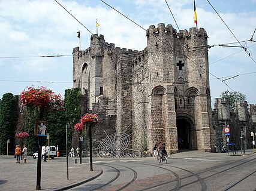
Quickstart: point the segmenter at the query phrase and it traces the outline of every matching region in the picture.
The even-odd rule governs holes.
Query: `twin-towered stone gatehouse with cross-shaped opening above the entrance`
[[[175,153],[181,149],[180,137],[183,148],[210,151],[212,116],[204,29],[177,33],[171,25],[150,26],[147,68],[149,145],[164,141],[167,151]]]

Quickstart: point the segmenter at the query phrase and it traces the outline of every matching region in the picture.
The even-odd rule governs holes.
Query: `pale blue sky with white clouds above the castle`
[[[81,31],[81,49],[85,50],[91,32],[96,33],[96,19],[98,33],[106,42],[138,51],[146,47],[146,32],[141,27],[147,29],[158,23],[172,24],[177,30],[195,27],[192,0],[167,0],[177,25],[165,0],[104,1],[141,27],[100,0],[57,1],[86,29],[53,0],[0,1],[0,98],[5,93],[19,94],[31,85],[43,85],[64,96],[65,89],[73,86],[72,52],[79,46],[77,31]],[[208,44],[215,45],[209,49],[212,104],[225,90],[239,91],[249,104],[256,104],[256,32],[253,41],[248,41],[256,28],[256,0],[195,3],[198,27],[207,31]],[[243,48],[219,46],[237,40],[243,41],[240,43],[247,53]],[[37,57],[57,55],[63,57]]]

